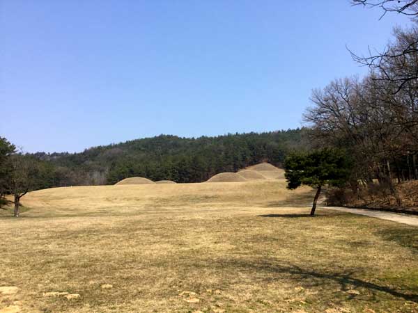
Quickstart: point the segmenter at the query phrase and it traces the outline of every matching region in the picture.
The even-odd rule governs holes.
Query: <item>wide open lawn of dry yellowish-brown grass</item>
[[[18,287],[0,312],[418,312],[418,227],[311,218],[312,191],[285,186],[25,195],[22,218],[0,210],[0,286]]]

